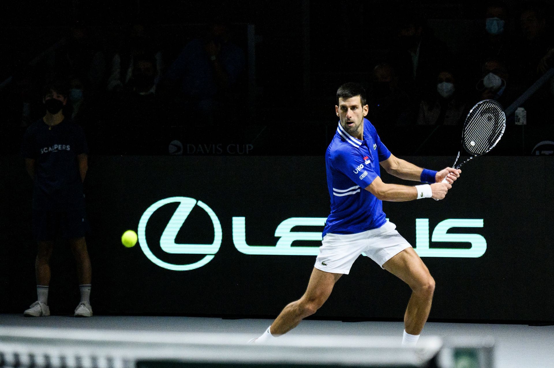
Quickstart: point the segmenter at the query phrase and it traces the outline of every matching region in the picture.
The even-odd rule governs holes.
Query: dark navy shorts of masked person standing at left
[[[85,209],[47,211],[33,209],[33,235],[37,241],[79,238],[89,231]]]

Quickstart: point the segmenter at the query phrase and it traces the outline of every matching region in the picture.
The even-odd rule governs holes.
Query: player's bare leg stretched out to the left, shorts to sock
[[[295,328],[302,319],[314,314],[331,295],[342,273],[330,273],[314,268],[304,295],[288,304],[271,324],[271,335],[278,336]]]

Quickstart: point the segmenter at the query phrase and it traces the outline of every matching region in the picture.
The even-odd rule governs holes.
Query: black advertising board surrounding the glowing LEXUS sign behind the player
[[[407,159],[440,168],[452,158]],[[9,209],[1,219],[4,298],[0,306],[4,313],[20,313],[35,298],[31,183],[17,157],[5,157],[0,164],[14,173],[0,182],[2,193],[10,193],[0,202]],[[416,244],[416,218],[428,218],[431,232],[445,219],[484,220],[483,228],[449,231],[484,236],[483,256],[423,258],[437,282],[431,320],[552,321],[552,165],[545,157],[478,158],[464,167],[445,200],[384,203],[387,216],[412,245]],[[249,245],[274,246],[275,228],[281,221],[327,216],[324,168],[322,157],[91,158],[85,193],[95,313],[274,317],[304,292],[315,256],[244,255],[233,245],[232,217],[245,217]],[[398,182],[386,173],[383,180]],[[122,232],[137,230],[150,205],[172,196],[203,201],[222,225],[222,245],[201,268],[170,271],[149,261],[139,245],[121,245]],[[164,261],[196,262],[203,255],[168,255],[159,248],[161,233],[176,207],[168,204],[154,212],[146,228],[148,245]],[[211,243],[211,227],[206,212],[195,207],[176,242]],[[299,241],[295,245],[317,247],[320,243]],[[430,243],[430,247],[467,246]],[[49,304],[53,313],[69,313],[78,301],[78,289],[73,260],[63,243],[55,248],[52,263]],[[361,257],[314,318],[402,319],[409,294],[406,284]]]

